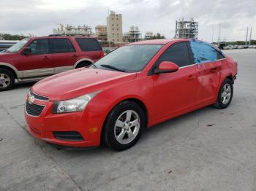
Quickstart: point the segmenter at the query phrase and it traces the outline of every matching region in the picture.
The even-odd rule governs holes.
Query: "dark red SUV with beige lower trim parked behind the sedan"
[[[61,71],[89,66],[104,52],[89,36],[42,36],[23,39],[0,52],[0,91],[18,82],[38,80]]]

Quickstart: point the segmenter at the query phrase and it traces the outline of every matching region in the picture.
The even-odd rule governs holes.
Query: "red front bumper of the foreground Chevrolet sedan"
[[[38,117],[26,112],[26,128],[32,136],[51,144],[67,147],[97,147],[100,144],[102,117],[95,111],[53,114],[53,101],[35,99],[33,104],[45,106]],[[88,111],[87,111],[88,110]],[[83,137],[82,141],[57,139],[53,132],[75,131]]]

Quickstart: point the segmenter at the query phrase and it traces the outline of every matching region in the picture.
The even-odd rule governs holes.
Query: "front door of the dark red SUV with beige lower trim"
[[[24,77],[39,77],[54,74],[52,54],[50,53],[48,39],[34,39],[26,47],[31,53],[19,55],[19,69]]]

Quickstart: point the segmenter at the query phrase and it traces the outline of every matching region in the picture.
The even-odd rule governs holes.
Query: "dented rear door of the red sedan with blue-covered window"
[[[192,53],[197,66],[197,104],[214,101],[219,90],[220,71],[222,60],[219,51],[211,44],[192,40],[190,42]]]

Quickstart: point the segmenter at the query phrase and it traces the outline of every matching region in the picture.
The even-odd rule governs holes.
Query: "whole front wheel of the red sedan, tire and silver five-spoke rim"
[[[143,109],[133,101],[123,101],[108,114],[103,139],[110,149],[129,149],[140,139],[146,125]]]

